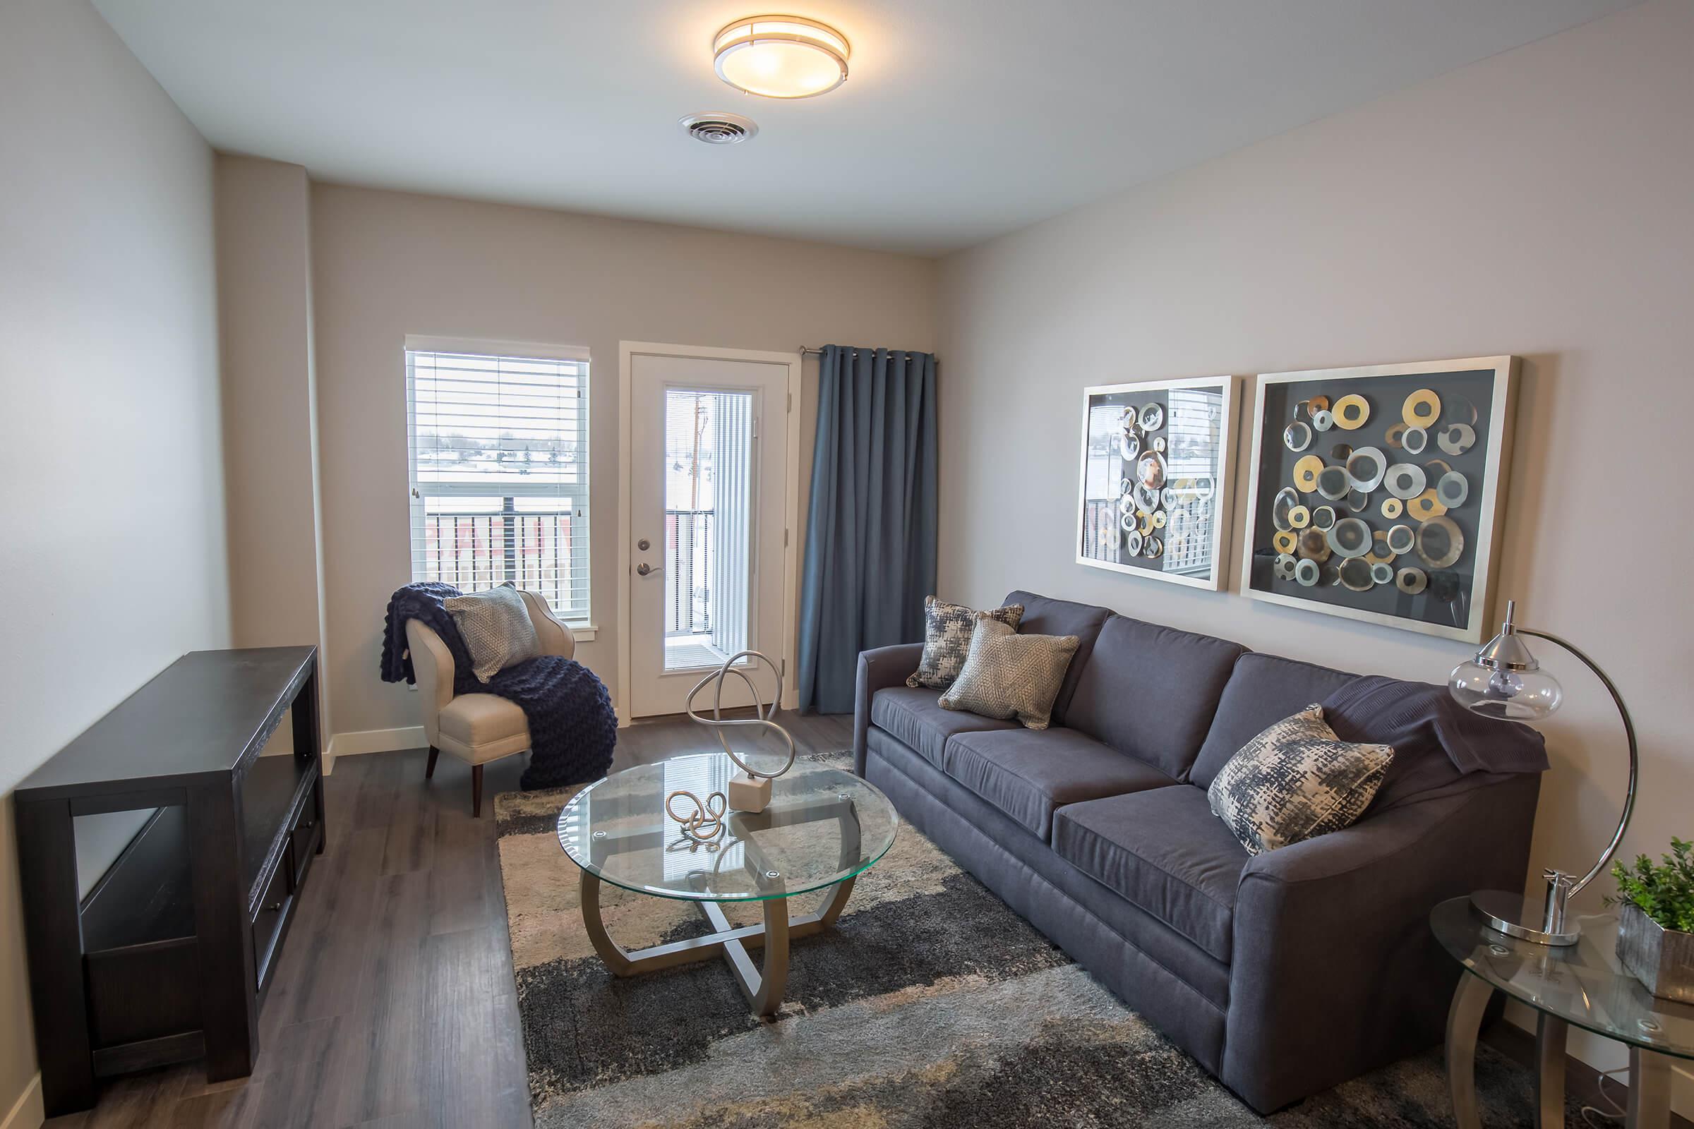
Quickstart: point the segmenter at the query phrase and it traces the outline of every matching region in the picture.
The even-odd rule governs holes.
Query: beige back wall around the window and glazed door
[[[313,186],[329,697],[337,733],[418,724],[376,677],[410,579],[407,333],[593,352],[593,614],[578,657],[617,675],[618,342],[933,349],[935,262],[434,196]],[[815,367],[800,405],[810,467]]]

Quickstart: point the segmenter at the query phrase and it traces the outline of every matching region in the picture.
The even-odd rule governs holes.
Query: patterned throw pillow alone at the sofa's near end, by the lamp
[[[1242,846],[1259,855],[1350,826],[1382,787],[1391,760],[1391,746],[1350,745],[1323,719],[1323,706],[1306,706],[1247,741],[1206,797]]]

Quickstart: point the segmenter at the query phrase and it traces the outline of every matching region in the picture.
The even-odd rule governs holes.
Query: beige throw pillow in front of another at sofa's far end
[[[942,709],[1016,718],[1028,730],[1045,730],[1076,647],[1074,635],[1018,635],[994,613],[979,611],[971,650],[942,694]]]

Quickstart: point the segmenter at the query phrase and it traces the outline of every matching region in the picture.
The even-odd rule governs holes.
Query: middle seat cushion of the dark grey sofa
[[[1152,765],[1076,730],[960,733],[947,741],[942,768],[1042,840],[1052,831],[1055,807],[1176,785]]]

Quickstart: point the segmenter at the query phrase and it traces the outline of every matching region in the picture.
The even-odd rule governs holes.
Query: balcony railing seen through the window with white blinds
[[[512,498],[496,513],[425,513],[424,559],[413,574],[468,592],[512,581],[559,616],[584,618],[588,609],[576,604],[586,589],[588,538],[578,542],[576,521],[574,511],[517,513]]]

